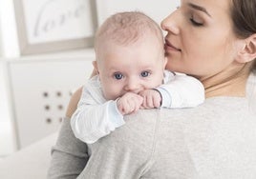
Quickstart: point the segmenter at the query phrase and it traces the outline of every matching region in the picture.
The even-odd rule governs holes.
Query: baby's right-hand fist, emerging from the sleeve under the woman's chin
[[[140,109],[154,109],[160,108],[161,95],[156,89],[145,89],[139,92],[139,95],[143,97],[143,103]]]

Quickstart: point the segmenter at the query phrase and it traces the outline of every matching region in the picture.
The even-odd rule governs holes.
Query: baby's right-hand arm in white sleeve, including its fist
[[[140,109],[192,108],[203,103],[204,88],[198,79],[185,74],[165,74],[169,74],[165,84],[139,92],[144,99]]]

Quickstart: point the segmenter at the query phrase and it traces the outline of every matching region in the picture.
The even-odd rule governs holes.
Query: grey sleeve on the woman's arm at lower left
[[[75,138],[70,119],[64,118],[57,141],[52,149],[48,179],[75,179],[89,160],[85,143]]]

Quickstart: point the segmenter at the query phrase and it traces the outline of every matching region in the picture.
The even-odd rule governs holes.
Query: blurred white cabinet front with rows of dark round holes
[[[23,148],[56,131],[71,94],[90,76],[92,59],[13,62],[9,66],[17,142]]]

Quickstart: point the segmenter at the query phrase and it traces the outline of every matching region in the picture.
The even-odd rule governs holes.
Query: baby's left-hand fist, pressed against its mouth
[[[136,112],[143,103],[143,97],[140,95],[127,92],[117,100],[117,109],[122,115]]]

